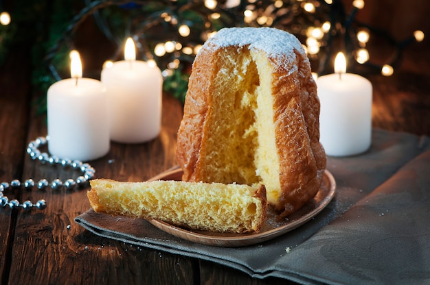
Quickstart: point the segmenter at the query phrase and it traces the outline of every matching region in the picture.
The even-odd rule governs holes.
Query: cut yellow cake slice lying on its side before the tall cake
[[[258,232],[267,216],[262,185],[110,179],[90,183],[87,196],[95,212],[234,233]]]

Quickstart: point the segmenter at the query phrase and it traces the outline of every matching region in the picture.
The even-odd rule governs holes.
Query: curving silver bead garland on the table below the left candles
[[[82,172],[82,176],[79,176],[74,179],[67,179],[64,183],[60,179],[54,179],[51,183],[47,181],[47,179],[41,179],[37,183],[34,182],[33,179],[27,179],[22,184],[19,179],[14,179],[10,182],[2,182],[0,184],[0,206],[5,208],[9,206],[11,209],[23,208],[23,210],[28,211],[32,210],[32,208],[37,208],[39,210],[43,210],[46,208],[47,203],[44,199],[38,200],[36,203],[32,203],[32,201],[24,201],[20,203],[16,199],[9,200],[8,197],[4,195],[5,190],[12,188],[21,188],[24,187],[25,190],[32,190],[34,186],[37,186],[39,190],[45,190],[49,186],[52,190],[58,191],[61,188],[66,188],[67,190],[73,190],[76,186],[83,187],[89,180],[95,177],[95,169],[89,165],[88,163],[84,163],[80,160],[69,160],[69,159],[60,159],[56,156],[49,156],[48,153],[41,152],[39,147],[46,145],[48,142],[48,138],[39,137],[36,140],[30,142],[27,146],[27,153],[30,155],[32,160],[38,160],[42,164],[49,163],[51,165],[60,164],[63,167],[71,167],[72,169],[76,169]]]

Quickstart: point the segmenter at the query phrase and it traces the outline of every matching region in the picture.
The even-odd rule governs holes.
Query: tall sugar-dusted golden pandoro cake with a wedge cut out
[[[326,168],[306,53],[280,29],[225,28],[196,55],[178,132],[183,180],[264,184],[287,216],[313,199]]]

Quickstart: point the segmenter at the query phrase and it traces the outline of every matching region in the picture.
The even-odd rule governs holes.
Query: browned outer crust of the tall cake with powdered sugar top
[[[308,58],[297,38],[278,29],[224,29],[196,56],[178,132],[177,159],[183,180],[211,182],[201,175],[205,166],[199,163],[199,156],[209,131],[205,120],[211,112],[213,82],[220,69],[218,53],[226,47],[258,50],[272,64],[273,123],[281,185],[280,197],[272,206],[280,216],[287,216],[319,190],[326,154],[319,143],[319,99]]]

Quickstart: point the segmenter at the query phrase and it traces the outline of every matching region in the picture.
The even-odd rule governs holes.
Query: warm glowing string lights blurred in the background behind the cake
[[[139,40],[137,48],[144,51],[140,54],[144,54],[146,59],[151,58],[153,62],[157,62],[163,70],[163,75],[166,76],[181,72],[180,66],[188,66],[187,64],[192,62],[194,55],[201,49],[201,44],[216,34],[218,29],[232,27],[236,24],[245,27],[277,27],[295,34],[300,40],[304,40],[306,37],[304,49],[309,59],[315,61],[312,63],[319,64],[318,72],[320,74],[332,71],[332,62],[331,60],[329,62],[328,59],[332,59],[330,53],[340,47],[345,49],[348,57],[353,55],[357,63],[363,64],[363,67],[372,68],[386,76],[390,72],[394,72],[392,66],[395,62],[388,62],[387,66],[383,67],[369,62],[369,51],[365,47],[370,36],[373,36],[373,32],[380,31],[354,21],[357,11],[364,8],[363,0],[352,1],[353,7],[350,13],[343,10],[343,1],[335,2],[333,0],[225,0],[219,3],[216,0],[205,0],[190,1],[186,6],[180,1],[174,5],[169,5],[168,2],[163,1],[160,4],[164,5],[163,10],[144,12],[142,16],[137,16],[133,22],[133,24],[139,24],[137,29],[134,26],[129,27],[131,31],[137,31],[133,38]],[[100,8],[112,5],[111,1],[100,1],[100,3],[102,3]],[[333,3],[336,5],[332,5]],[[184,6],[179,7],[180,5]],[[176,10],[185,7],[191,12],[197,12],[196,14],[201,18],[187,18],[186,13],[181,14]],[[90,11],[88,8],[87,13],[98,8],[91,7],[91,9],[93,10]],[[84,15],[84,13],[81,14]],[[339,18],[339,16],[346,18]],[[100,22],[109,23],[109,19],[103,20],[106,21]],[[157,27],[152,29],[155,26]],[[73,27],[73,25],[69,25],[69,27]],[[106,25],[106,29],[110,29],[110,27]],[[75,30],[76,27],[70,29],[71,32]],[[163,31],[165,34],[154,34],[157,33],[154,31]],[[393,41],[389,37],[390,35],[383,34],[383,36],[396,45],[396,49],[400,53],[401,49],[411,40],[422,41],[424,33],[416,31],[414,37],[409,37],[405,42]],[[50,59],[52,60],[52,57]],[[364,71],[363,67],[360,71]],[[348,68],[354,69],[354,65]],[[170,71],[170,69],[174,69],[174,71]],[[188,72],[188,69],[184,70],[185,73]],[[178,77],[175,76],[175,78]]]

